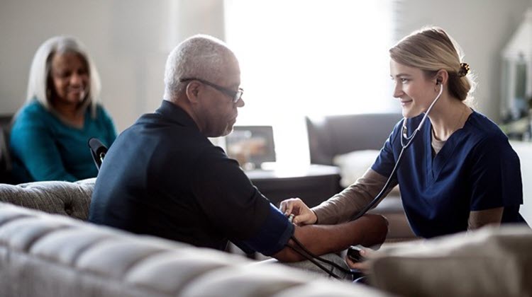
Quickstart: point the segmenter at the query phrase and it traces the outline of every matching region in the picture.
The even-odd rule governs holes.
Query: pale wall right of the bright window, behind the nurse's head
[[[398,36],[423,25],[438,25],[458,41],[465,62],[477,74],[477,110],[499,120],[501,50],[523,20],[532,0],[404,0],[399,4]]]

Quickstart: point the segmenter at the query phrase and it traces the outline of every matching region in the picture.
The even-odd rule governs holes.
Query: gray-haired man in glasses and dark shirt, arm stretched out
[[[282,261],[303,257],[296,238],[323,255],[382,243],[382,216],[336,226],[295,226],[252,185],[238,163],[207,137],[227,135],[244,106],[235,54],[214,37],[184,40],[167,59],[165,95],[109,149],[96,180],[89,221],[133,233]]]

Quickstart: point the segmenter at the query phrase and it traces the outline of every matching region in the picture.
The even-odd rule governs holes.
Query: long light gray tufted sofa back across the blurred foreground
[[[2,296],[387,296],[366,286],[0,203]]]

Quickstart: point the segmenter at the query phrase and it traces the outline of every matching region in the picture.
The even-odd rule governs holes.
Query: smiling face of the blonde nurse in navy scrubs
[[[403,117],[416,117],[425,112],[438,95],[434,80],[426,78],[423,71],[390,60],[390,76],[395,83],[394,98],[401,103]]]

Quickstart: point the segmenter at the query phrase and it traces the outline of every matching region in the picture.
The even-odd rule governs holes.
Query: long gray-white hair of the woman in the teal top
[[[48,90],[48,79],[52,71],[52,57],[55,54],[64,54],[66,52],[74,52],[79,54],[84,62],[87,63],[89,71],[90,89],[87,94],[85,102],[91,106],[92,117],[96,116],[96,104],[100,102],[100,76],[96,70],[96,65],[87,54],[82,42],[79,42],[71,36],[55,36],[43,42],[42,45],[35,52],[33,61],[31,62],[30,75],[28,78],[28,93],[26,96],[26,103],[31,103],[33,100],[38,100],[47,110],[51,109],[50,90]],[[85,105],[85,106],[87,106]]]

